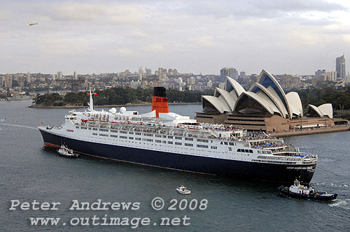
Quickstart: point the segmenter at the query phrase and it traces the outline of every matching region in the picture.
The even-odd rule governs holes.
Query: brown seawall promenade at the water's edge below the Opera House
[[[350,125],[346,126],[334,126],[329,128],[320,128],[320,129],[307,129],[304,131],[285,131],[279,133],[269,133],[269,136],[273,137],[289,137],[289,136],[304,136],[311,135],[316,133],[333,133],[333,132],[341,132],[341,131],[350,131]]]

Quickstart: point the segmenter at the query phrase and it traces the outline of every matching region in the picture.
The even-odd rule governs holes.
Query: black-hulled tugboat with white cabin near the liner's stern
[[[328,193],[328,192],[316,192],[314,188],[307,187],[300,184],[300,181],[294,181],[294,184],[290,187],[279,187],[281,194],[285,196],[292,196],[295,198],[307,198],[318,201],[332,201],[337,198],[338,194]]]

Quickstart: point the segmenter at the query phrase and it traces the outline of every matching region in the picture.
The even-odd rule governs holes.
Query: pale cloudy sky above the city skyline
[[[350,71],[350,1],[0,0],[0,73]],[[38,23],[29,26],[30,23]],[[349,57],[348,57],[349,56]]]

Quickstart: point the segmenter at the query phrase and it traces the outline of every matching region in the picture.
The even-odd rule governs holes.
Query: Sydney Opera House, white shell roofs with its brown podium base
[[[202,111],[196,113],[196,119],[267,132],[334,126],[330,103],[318,107],[309,105],[307,115],[303,115],[297,92],[286,94],[265,70],[248,91],[236,80],[226,77],[225,89],[216,88],[214,96],[202,96]]]

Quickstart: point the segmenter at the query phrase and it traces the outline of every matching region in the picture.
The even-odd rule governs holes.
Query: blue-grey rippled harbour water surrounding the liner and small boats
[[[278,186],[273,183],[232,180],[90,157],[57,157],[55,150],[43,146],[36,126],[41,122],[63,124],[64,115],[70,109],[27,108],[30,103],[0,101],[0,118],[6,118],[0,122],[0,231],[350,230],[349,131],[286,138],[301,151],[318,154],[311,185],[317,191],[339,194],[334,202],[320,203],[279,196]],[[200,110],[201,106],[169,108],[193,118],[195,110]],[[151,106],[130,106],[128,110],[146,113]],[[175,189],[181,184],[192,194],[177,194]],[[155,197],[165,202],[162,210],[152,208]],[[111,203],[139,203],[139,209],[70,210],[75,200],[94,203],[99,202],[98,199]],[[207,204],[203,199],[207,199]],[[21,210],[19,206],[10,210],[11,200],[59,202],[60,205],[58,210]],[[176,201],[176,210],[169,210]],[[184,207],[186,202],[192,202],[193,209],[189,205]],[[199,208],[201,203],[202,210]],[[94,226],[91,220],[94,215],[130,220],[148,217],[151,223],[140,223],[134,229],[131,224]],[[60,221],[57,226],[33,226],[30,218],[36,217],[59,217]],[[179,217],[181,222],[179,225],[160,225],[164,217]],[[187,226],[183,225],[184,217],[189,218]],[[90,225],[72,225],[78,220],[81,222],[81,218],[89,218]],[[133,222],[135,224],[137,220]]]

